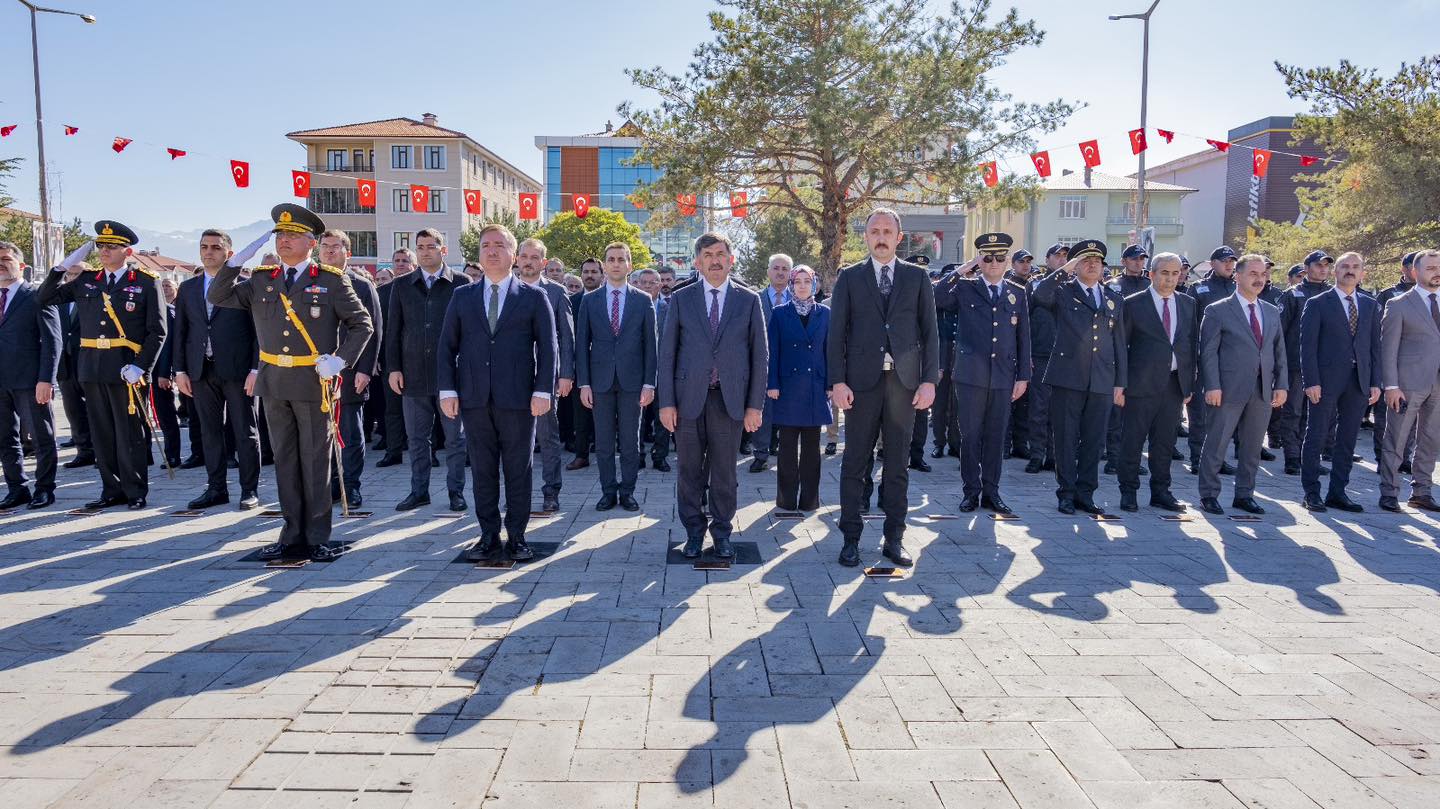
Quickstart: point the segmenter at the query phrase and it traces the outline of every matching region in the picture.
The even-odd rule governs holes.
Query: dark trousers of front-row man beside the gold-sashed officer
[[[536,417],[528,409],[465,407],[459,412],[469,452],[475,518],[482,537],[500,535],[500,479],[505,481],[505,534],[526,538],[530,525],[530,474],[534,466]]]

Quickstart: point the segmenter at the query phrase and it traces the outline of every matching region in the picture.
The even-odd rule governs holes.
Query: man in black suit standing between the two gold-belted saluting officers
[[[229,233],[213,229],[202,233],[203,272],[186,279],[176,297],[176,331],[171,337],[176,389],[194,402],[206,474],[204,492],[192,500],[189,508],[230,502],[226,428],[239,461],[240,510],[261,502],[261,436],[255,404],[261,357],[255,322],[243,311],[216,307],[207,298],[215,274],[233,255]]]

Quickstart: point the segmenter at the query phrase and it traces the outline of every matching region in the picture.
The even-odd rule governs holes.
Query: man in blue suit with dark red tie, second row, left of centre
[[[635,501],[639,415],[655,397],[655,307],[649,295],[625,281],[629,272],[629,245],[606,245],[605,284],[586,292],[575,324],[575,379],[580,404],[595,417],[595,453],[600,465],[596,511],[609,511],[616,504],[625,511],[639,511]]]

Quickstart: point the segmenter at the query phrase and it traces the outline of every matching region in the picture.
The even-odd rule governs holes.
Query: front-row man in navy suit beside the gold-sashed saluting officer
[[[505,554],[534,559],[526,543],[536,419],[554,397],[554,318],[544,292],[511,275],[516,235],[503,225],[480,230],[484,275],[451,295],[441,325],[441,412],[465,425],[480,540],[468,557],[500,553],[500,479],[505,481]]]

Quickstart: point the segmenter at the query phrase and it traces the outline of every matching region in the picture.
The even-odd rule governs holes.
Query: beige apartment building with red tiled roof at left
[[[354,265],[370,271],[390,265],[415,232],[445,233],[446,261],[464,263],[459,235],[488,216],[514,214],[521,193],[540,193],[540,181],[490,151],[465,132],[446,130],[433,114],[343,124],[289,132],[305,147],[311,173],[307,207],[325,225],[350,235]],[[360,204],[357,178],[376,180],[373,206]],[[410,207],[410,186],[431,189],[429,210]],[[464,190],[478,190],[478,214],[465,212]]]

